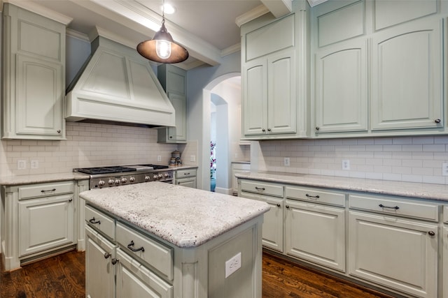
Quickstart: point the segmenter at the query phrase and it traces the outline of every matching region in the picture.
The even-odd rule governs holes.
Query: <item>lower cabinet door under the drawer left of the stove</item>
[[[38,253],[57,246],[73,244],[73,195],[19,202],[20,256]]]

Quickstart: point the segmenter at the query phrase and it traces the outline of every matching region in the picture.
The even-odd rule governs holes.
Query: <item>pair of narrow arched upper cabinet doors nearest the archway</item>
[[[295,50],[249,61],[244,66],[244,135],[296,133]]]

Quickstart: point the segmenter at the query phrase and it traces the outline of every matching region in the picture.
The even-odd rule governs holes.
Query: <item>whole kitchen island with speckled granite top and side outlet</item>
[[[265,202],[161,182],[80,198],[87,296],[261,297]]]

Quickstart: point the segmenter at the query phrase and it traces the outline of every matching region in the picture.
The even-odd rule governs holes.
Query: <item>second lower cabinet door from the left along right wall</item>
[[[345,272],[345,209],[286,200],[286,253]]]

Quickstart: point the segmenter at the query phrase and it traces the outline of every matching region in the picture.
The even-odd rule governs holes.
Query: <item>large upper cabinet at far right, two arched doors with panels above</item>
[[[446,133],[437,7],[330,0],[312,10],[315,137]]]

